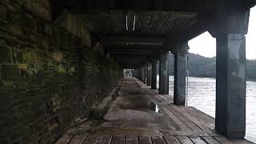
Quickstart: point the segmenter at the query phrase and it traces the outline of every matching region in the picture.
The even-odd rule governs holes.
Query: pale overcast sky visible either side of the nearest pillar
[[[190,40],[190,53],[205,57],[216,56],[216,40],[206,32]],[[256,6],[250,10],[249,31],[246,35],[246,58],[256,59]]]

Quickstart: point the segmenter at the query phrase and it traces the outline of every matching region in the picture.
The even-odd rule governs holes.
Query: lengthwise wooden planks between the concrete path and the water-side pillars
[[[166,115],[167,118],[172,119],[181,130],[204,131],[207,134],[216,134],[214,131],[214,118],[189,106],[174,106],[170,95],[161,95],[157,94],[154,90],[147,90],[154,101],[161,104],[159,106],[160,112]]]

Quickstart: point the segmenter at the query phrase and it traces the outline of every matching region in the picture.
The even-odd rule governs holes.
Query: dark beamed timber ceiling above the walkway
[[[223,0],[225,1],[225,0]],[[53,0],[53,18],[63,10],[78,14],[123,68],[136,68],[161,50],[206,31],[221,0]],[[229,0],[226,0],[228,2]],[[234,0],[250,7],[254,0]]]

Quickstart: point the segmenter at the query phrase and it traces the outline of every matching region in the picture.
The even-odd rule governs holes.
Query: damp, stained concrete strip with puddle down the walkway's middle
[[[181,130],[179,126],[161,111],[156,111],[157,102],[150,98],[150,93],[138,86],[134,78],[124,78],[118,98],[110,109],[95,125],[84,123],[72,130],[72,134],[124,134],[124,135],[159,135],[166,131]],[[82,130],[82,127],[86,129]],[[79,130],[76,131],[76,130]]]

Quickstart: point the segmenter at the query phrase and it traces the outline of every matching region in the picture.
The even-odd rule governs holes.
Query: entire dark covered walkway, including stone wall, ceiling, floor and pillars
[[[0,0],[0,143],[243,139],[246,34],[255,5]],[[206,31],[216,38],[216,120],[185,106],[188,42]],[[167,95],[170,53],[174,94]],[[134,78],[122,79],[124,70]]]

